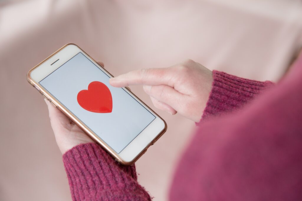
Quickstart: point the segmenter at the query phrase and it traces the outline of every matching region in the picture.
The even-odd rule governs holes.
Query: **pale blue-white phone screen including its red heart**
[[[81,52],[39,83],[117,153],[156,118]]]

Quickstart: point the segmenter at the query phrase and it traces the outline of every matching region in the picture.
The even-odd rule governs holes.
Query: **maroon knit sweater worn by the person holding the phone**
[[[302,58],[265,91],[271,82],[213,76],[170,200],[302,200]],[[63,161],[73,200],[151,200],[135,166],[117,164],[99,145],[78,145]]]

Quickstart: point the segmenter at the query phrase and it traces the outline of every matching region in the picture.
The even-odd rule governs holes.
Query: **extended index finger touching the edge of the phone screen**
[[[129,85],[169,85],[173,86],[169,68],[140,69],[130,71],[126,74],[110,78],[109,83],[114,87],[125,87]]]

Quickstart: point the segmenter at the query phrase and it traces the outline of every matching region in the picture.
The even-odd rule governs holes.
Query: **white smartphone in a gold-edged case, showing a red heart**
[[[115,160],[131,165],[167,124],[79,46],[66,44],[27,73],[27,81]]]

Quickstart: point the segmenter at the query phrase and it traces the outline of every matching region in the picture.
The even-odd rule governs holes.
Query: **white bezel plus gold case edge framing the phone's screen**
[[[27,73],[27,81],[37,88],[42,95],[47,97],[59,110],[65,113],[76,125],[78,125],[84,132],[86,132],[92,139],[98,142],[104,149],[106,149],[117,161],[124,165],[131,165],[141,155],[143,155],[150,145],[153,145],[166,131],[167,124],[165,121],[156,114],[151,108],[149,108],[143,101],[141,101],[136,95],[134,95],[127,88],[123,88],[128,94],[130,94],[136,101],[142,104],[150,113],[156,118],[146,128],[140,132],[119,154],[115,152],[109,145],[106,144],[98,135],[96,135],[85,123],[71,111],[69,111],[63,104],[61,104],[55,97],[52,96],[39,82],[50,75],[53,71],[58,69],[61,65],[81,52],[91,62],[93,62],[101,71],[103,71],[109,77],[113,77],[106,69],[99,65],[94,59],[92,59],[87,53],[85,53],[79,46],[73,43],[66,44],[58,49],[55,53],[50,55],[47,59],[36,65]],[[59,60],[57,60],[59,59]],[[54,63],[55,62],[55,63]],[[52,64],[52,65],[51,65]]]

